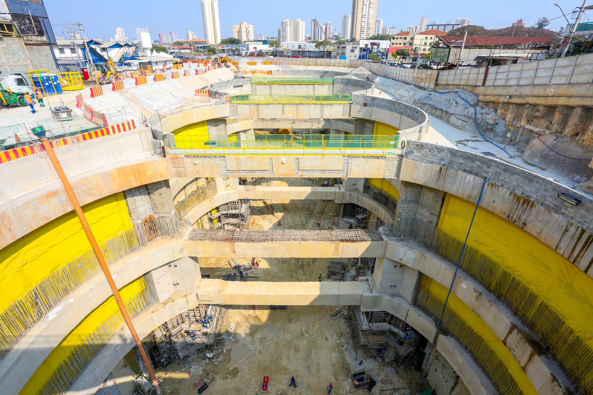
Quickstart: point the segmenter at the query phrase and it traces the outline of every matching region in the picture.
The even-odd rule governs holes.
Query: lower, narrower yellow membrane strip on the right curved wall
[[[471,227],[470,235],[474,232],[474,226],[476,226],[475,221]],[[438,282],[432,280],[423,282],[422,286],[425,288],[423,289],[424,291],[438,298],[441,303],[445,302],[448,288],[445,288]],[[454,313],[457,314],[461,320],[463,320],[469,327],[471,327],[471,329],[474,330],[474,332],[476,332],[480,337],[482,337],[482,339],[484,339],[484,341],[486,341],[486,343],[490,346],[490,349],[492,349],[492,352],[498,356],[498,359],[503,362],[509,374],[511,374],[515,379],[515,382],[521,391],[523,391],[525,394],[537,394],[533,384],[531,384],[531,381],[521,369],[521,366],[519,366],[515,357],[512,356],[509,349],[506,348],[498,336],[492,332],[492,329],[490,329],[490,327],[487,326],[486,323],[483,322],[483,320],[476,313],[474,313],[470,307],[467,306],[467,304],[463,303],[460,298],[451,293],[451,295],[449,295],[449,300],[447,301],[447,307],[448,309],[454,311]],[[440,315],[441,311],[439,311],[438,314]]]

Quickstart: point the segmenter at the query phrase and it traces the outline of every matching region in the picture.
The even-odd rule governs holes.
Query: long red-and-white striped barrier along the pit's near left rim
[[[97,139],[98,137],[109,136],[111,134],[122,133],[123,131],[136,129],[134,120],[125,121],[119,124],[107,126],[101,129],[87,131],[85,133],[75,134],[74,136],[62,137],[61,139],[55,139],[50,144],[52,147],[58,148],[69,144],[84,142],[87,140]],[[0,151],[0,163],[10,162],[11,160],[24,158],[28,155],[33,155],[43,151],[43,145],[40,143],[33,144],[32,146],[24,146],[18,148],[12,148],[5,151]]]

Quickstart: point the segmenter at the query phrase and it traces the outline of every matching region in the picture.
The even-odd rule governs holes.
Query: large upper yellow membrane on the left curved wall
[[[132,229],[122,192],[82,207],[99,243]],[[62,265],[91,248],[74,211],[0,251],[0,311]]]

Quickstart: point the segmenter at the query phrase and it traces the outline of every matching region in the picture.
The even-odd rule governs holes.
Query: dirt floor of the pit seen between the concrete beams
[[[288,181],[288,184],[286,183]],[[280,186],[320,185],[321,179],[255,179],[248,185]],[[338,226],[339,205],[333,201],[252,201],[250,229],[321,229]],[[253,257],[235,257],[247,263]],[[234,272],[227,264],[228,257],[200,259],[202,274],[218,278],[218,274]],[[259,268],[252,269],[248,281],[317,281],[323,274],[327,281],[327,259],[259,258]],[[377,380],[372,393],[416,393],[420,373],[398,370],[384,361],[378,361],[375,350],[369,355],[359,350],[358,355],[350,336],[349,323],[340,317],[333,320],[333,306],[289,306],[270,310],[259,306],[257,310],[246,306],[229,306],[224,329],[216,354],[206,358],[201,353],[186,357],[181,362],[157,372],[163,379],[164,394],[196,394],[196,378],[213,375],[205,394],[256,394],[264,375],[269,375],[267,394],[327,394],[326,387],[333,384],[332,394],[366,393],[355,391],[350,374],[366,369]],[[208,359],[208,363],[206,363]],[[359,362],[362,364],[359,365]],[[288,387],[294,375],[297,388]],[[391,380],[381,384],[382,380]],[[390,388],[394,388],[390,390]],[[395,388],[398,388],[397,390]],[[380,391],[385,390],[385,391]],[[266,393],[259,391],[260,394]]]

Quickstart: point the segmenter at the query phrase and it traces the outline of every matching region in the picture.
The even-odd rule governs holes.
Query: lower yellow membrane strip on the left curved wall
[[[144,282],[144,277],[136,278],[136,280],[120,289],[120,295],[122,296],[123,302],[126,303],[130,298],[139,292],[144,291],[145,288],[146,284]],[[115,298],[110,296],[96,309],[91,311],[88,316],[84,317],[84,319],[82,319],[82,321],[62,339],[58,346],[56,346],[56,348],[47,356],[45,361],[39,365],[39,368],[37,368],[20,393],[23,395],[39,393],[47,380],[52,377],[56,368],[58,368],[59,365],[72,354],[72,351],[74,351],[76,346],[81,345],[85,339],[87,339],[89,333],[92,333],[97,326],[100,326],[101,323],[103,323],[103,321],[107,320],[110,316],[116,316],[116,314],[121,315]]]

